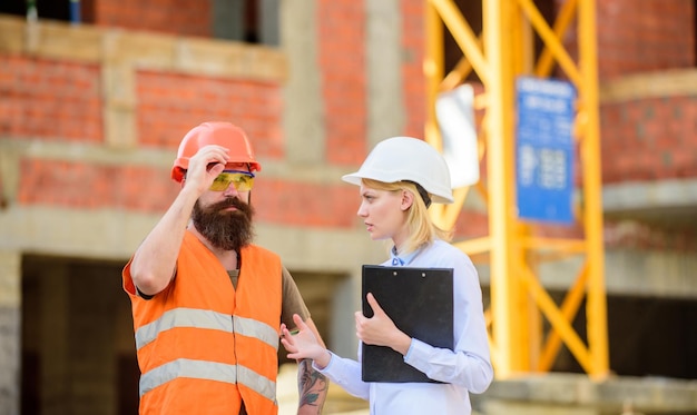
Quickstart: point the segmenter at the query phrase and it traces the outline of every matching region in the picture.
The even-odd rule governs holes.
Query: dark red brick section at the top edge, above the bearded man
[[[210,37],[209,0],[95,0],[94,24]]]

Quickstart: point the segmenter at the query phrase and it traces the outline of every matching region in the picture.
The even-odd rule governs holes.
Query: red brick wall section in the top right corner
[[[696,65],[694,0],[596,3],[601,79]]]

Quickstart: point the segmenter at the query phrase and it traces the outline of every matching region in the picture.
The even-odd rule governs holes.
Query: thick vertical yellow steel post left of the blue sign
[[[487,51],[489,96],[487,110],[487,166],[489,186],[489,233],[492,337],[499,348],[497,374],[509,377],[527,372],[528,344],[517,319],[527,309],[521,303],[520,281],[514,278],[516,229],[513,207],[513,91],[512,53],[509,29],[512,24],[510,2],[488,0],[483,3],[484,50]],[[477,68],[477,66],[475,66]],[[478,75],[479,72],[478,69]]]

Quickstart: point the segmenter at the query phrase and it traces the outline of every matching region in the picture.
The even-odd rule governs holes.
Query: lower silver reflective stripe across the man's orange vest
[[[210,379],[229,384],[240,383],[276,404],[273,382],[244,366],[180,358],[166,363],[140,376],[140,396],[177,377]]]

